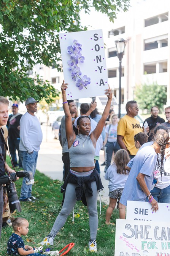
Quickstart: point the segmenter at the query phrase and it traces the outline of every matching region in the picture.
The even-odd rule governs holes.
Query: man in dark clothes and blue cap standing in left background
[[[14,167],[22,167],[21,157],[19,156],[19,122],[22,114],[18,113],[18,104],[14,103],[12,105],[12,114],[8,118],[7,128],[8,128],[8,146],[10,149],[11,158]],[[19,162],[17,163],[16,150],[19,156]]]

